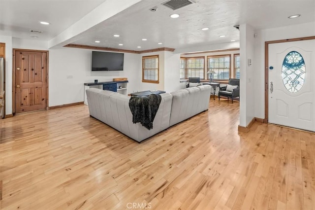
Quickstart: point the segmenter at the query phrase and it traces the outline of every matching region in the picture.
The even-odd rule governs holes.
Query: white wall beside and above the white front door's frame
[[[315,22],[285,26],[255,32],[255,69],[254,69],[254,100],[255,117],[265,117],[265,41],[299,38],[315,35]],[[241,73],[242,77],[242,73]]]

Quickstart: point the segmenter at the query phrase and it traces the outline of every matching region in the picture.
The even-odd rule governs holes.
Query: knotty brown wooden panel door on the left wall
[[[15,113],[46,109],[47,52],[15,50]]]

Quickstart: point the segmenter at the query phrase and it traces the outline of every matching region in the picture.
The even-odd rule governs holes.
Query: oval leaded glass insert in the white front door
[[[296,51],[289,52],[282,64],[284,87],[290,93],[301,90],[305,80],[305,63],[302,55]]]

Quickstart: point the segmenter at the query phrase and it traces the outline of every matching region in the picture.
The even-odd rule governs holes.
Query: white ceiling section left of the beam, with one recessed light
[[[49,40],[105,0],[0,0],[0,35]],[[51,25],[39,23],[46,21]],[[31,33],[30,29],[43,31]]]

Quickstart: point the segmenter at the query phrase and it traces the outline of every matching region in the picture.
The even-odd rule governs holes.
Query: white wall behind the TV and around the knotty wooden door
[[[0,36],[6,44],[6,114],[12,113],[12,48],[48,50],[47,42]],[[128,93],[140,89],[139,54],[125,53],[123,71],[91,71],[92,50],[59,47],[49,49],[49,106],[84,101],[84,83],[128,78]],[[140,73],[139,73],[140,72]],[[72,77],[72,78],[68,78]]]

